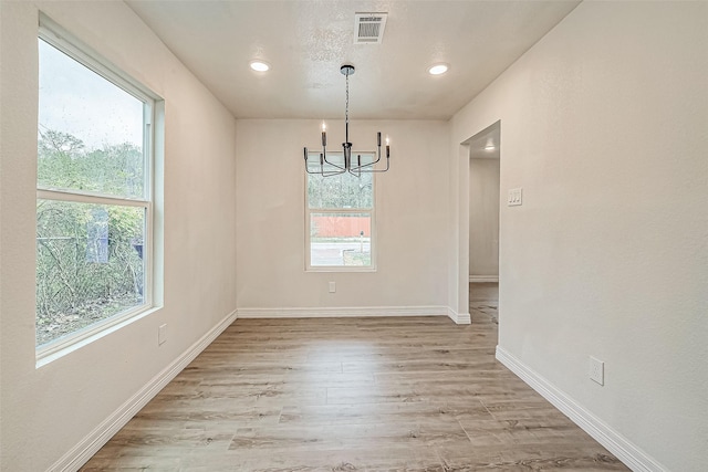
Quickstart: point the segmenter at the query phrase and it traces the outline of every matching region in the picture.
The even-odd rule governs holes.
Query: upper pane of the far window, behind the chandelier
[[[309,169],[314,171],[320,168],[320,155],[310,155],[308,159]],[[352,153],[355,159],[356,153]],[[371,156],[371,154],[369,154]],[[334,154],[332,161],[339,162],[342,153]],[[327,154],[327,159],[330,155]],[[316,161],[316,166],[313,162]],[[325,170],[326,167],[325,167]],[[345,209],[369,209],[374,206],[374,191],[372,189],[373,174],[362,172],[360,177],[348,172],[337,176],[322,177],[308,174],[308,202],[310,208],[345,208]]]

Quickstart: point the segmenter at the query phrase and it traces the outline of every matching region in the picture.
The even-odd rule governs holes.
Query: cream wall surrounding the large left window
[[[35,368],[38,7],[165,98],[164,307]],[[0,469],[48,470],[236,308],[236,124],[123,2],[0,2]],[[157,346],[157,327],[168,339]]]

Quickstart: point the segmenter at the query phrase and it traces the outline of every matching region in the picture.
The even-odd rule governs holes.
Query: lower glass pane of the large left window
[[[37,345],[144,303],[145,208],[37,202]]]

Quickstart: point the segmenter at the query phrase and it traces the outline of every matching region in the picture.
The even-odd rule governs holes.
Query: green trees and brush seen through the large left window
[[[44,130],[38,186],[107,196],[144,193],[144,157],[131,144],[86,150]],[[37,344],[143,304],[143,207],[38,199]]]

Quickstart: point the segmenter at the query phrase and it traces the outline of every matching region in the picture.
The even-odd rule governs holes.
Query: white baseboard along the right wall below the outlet
[[[497,346],[497,359],[633,471],[666,472],[668,470],[500,346]]]

